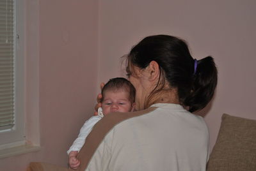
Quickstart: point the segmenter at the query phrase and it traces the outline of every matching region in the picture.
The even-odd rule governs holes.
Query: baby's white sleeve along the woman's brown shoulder
[[[70,151],[80,151],[83,147],[85,138],[88,134],[92,131],[93,126],[100,121],[102,117],[99,115],[95,115],[88,119],[84,124],[83,127],[80,129],[79,135],[76,140],[73,142],[67,153],[69,154]]]

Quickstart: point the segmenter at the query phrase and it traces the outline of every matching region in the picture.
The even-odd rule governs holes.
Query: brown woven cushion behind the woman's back
[[[256,170],[256,121],[223,114],[207,171]]]

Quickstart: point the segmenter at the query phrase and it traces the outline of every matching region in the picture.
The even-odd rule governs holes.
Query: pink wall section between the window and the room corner
[[[97,93],[98,1],[26,0],[26,3],[27,100],[36,97],[29,93],[36,89],[31,82],[39,86],[39,99],[35,99],[38,107],[29,107],[32,103],[27,103],[26,118],[27,125],[35,128],[36,122],[31,118],[36,119],[34,112],[38,110],[42,149],[0,159],[0,170],[25,170],[31,161],[67,166],[66,151],[83,122],[93,114]],[[33,18],[37,7],[38,21]],[[36,24],[38,31],[31,29]],[[39,39],[37,46],[31,36],[35,33]],[[31,47],[38,47],[39,52]],[[33,56],[36,53],[37,60]]]

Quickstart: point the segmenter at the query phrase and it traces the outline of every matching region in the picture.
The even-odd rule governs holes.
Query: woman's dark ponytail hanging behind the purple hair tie
[[[184,99],[189,112],[204,108],[211,101],[217,85],[218,76],[214,59],[211,56],[198,60],[193,74],[191,93]]]

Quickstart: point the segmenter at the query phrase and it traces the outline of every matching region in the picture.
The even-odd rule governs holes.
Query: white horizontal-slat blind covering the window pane
[[[14,126],[13,0],[0,0],[0,131]]]

